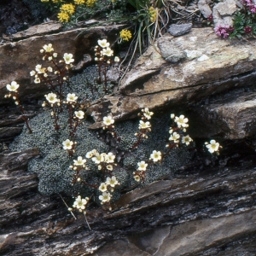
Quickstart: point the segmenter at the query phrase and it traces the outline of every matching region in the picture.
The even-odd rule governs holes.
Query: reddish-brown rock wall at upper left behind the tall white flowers
[[[110,42],[114,41],[119,27],[121,25],[79,28],[0,45],[0,104],[6,102],[6,84],[14,80],[20,84],[22,98],[35,98],[44,95],[48,90],[45,84],[34,84],[29,74],[37,64],[44,64],[39,53],[44,44],[53,44],[60,56],[66,52],[72,53],[76,65],[84,59],[84,54],[94,54],[93,47],[98,39],[108,38]]]

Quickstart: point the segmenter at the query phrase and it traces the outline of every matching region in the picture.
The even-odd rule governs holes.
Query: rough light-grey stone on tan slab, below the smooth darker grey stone
[[[187,56],[182,49],[179,49],[169,40],[159,40],[158,47],[162,57],[172,63],[177,63]]]

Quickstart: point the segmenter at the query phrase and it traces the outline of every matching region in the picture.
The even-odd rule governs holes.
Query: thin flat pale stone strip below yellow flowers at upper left
[[[31,26],[30,28],[13,34],[10,38],[12,39],[22,39],[22,38],[30,38],[38,35],[43,35],[51,32],[58,32],[61,30],[61,22],[57,22],[55,20],[49,20],[44,22],[38,26]]]

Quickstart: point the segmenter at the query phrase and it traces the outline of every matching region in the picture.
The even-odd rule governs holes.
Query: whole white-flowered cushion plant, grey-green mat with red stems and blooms
[[[100,43],[106,46],[102,51],[107,50],[107,40],[102,41]],[[55,61],[51,44],[44,45],[41,52],[44,61],[49,61],[53,67],[38,64],[31,75],[35,83],[44,81],[53,92],[45,95],[43,106],[46,111],[31,120],[35,131],[31,136],[23,132],[11,147],[16,150],[39,148],[41,155],[31,160],[28,168],[38,174],[38,189],[42,194],[64,192],[73,196],[73,207],[68,210],[82,212],[86,220],[86,206],[90,200],[95,199],[96,203],[111,210],[111,203],[119,198],[122,189],[151,183],[189,160],[186,146],[192,139],[184,135],[189,119],[183,115],[172,114],[173,124],[169,127],[169,117],[154,120],[154,113],[148,108],[138,114],[139,125],[133,121],[114,124],[112,115],[108,114],[102,118],[102,129],[98,134],[89,131],[90,120],[85,119],[83,102],[93,93],[84,80],[69,79],[67,71],[72,67],[73,55],[64,54],[63,60]],[[91,76],[90,83],[94,83],[97,74],[96,67],[89,69],[86,76]],[[65,86],[67,82],[68,87]],[[102,90],[104,88],[102,84]],[[17,90],[16,84],[13,84],[13,90]],[[50,126],[52,119],[54,127]],[[156,124],[166,134],[169,131],[167,144],[164,132],[154,129]],[[214,152],[220,148],[216,142],[210,144]],[[166,150],[160,151],[165,145]]]

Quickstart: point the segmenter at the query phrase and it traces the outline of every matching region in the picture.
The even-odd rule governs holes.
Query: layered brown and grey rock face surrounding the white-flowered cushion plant
[[[20,84],[26,82],[21,78],[38,63],[32,56],[42,45],[56,43],[57,49],[67,44],[67,52],[74,50],[83,62],[86,53],[80,55],[79,43],[90,48],[98,33],[107,38],[107,33],[111,37],[115,31],[101,29],[103,32],[91,28],[72,40],[71,35],[82,29],[1,46],[10,60],[1,62],[2,70],[7,70],[7,63],[14,66],[11,73],[1,72],[1,103],[8,102],[3,101],[7,81],[18,77]],[[33,48],[33,42],[37,47]],[[177,62],[166,60],[170,44],[185,53]],[[25,56],[28,45],[32,54]],[[198,142],[206,137],[222,138],[224,148],[218,160],[202,157],[198,150],[170,179],[123,191],[111,212],[91,204],[86,215],[90,227],[82,215],[73,218],[60,195],[39,195],[38,177],[26,172],[28,160],[38,156],[38,149],[9,152],[8,143],[20,132],[22,122],[15,107],[2,105],[0,254],[255,255],[255,90],[250,86],[256,77],[254,46],[254,40],[218,39],[210,28],[192,29],[177,38],[166,35],[155,44],[159,50],[151,47],[136,61],[119,91],[93,103],[88,113],[99,121],[96,125],[107,113],[115,119],[128,119],[140,108],[187,111],[189,121],[195,120],[190,124],[191,137]],[[30,61],[29,68],[24,60]],[[34,99],[24,102],[32,117],[40,112],[36,106],[44,90],[30,84],[30,79],[27,83],[20,86],[20,95]],[[62,196],[72,205],[72,199]]]

